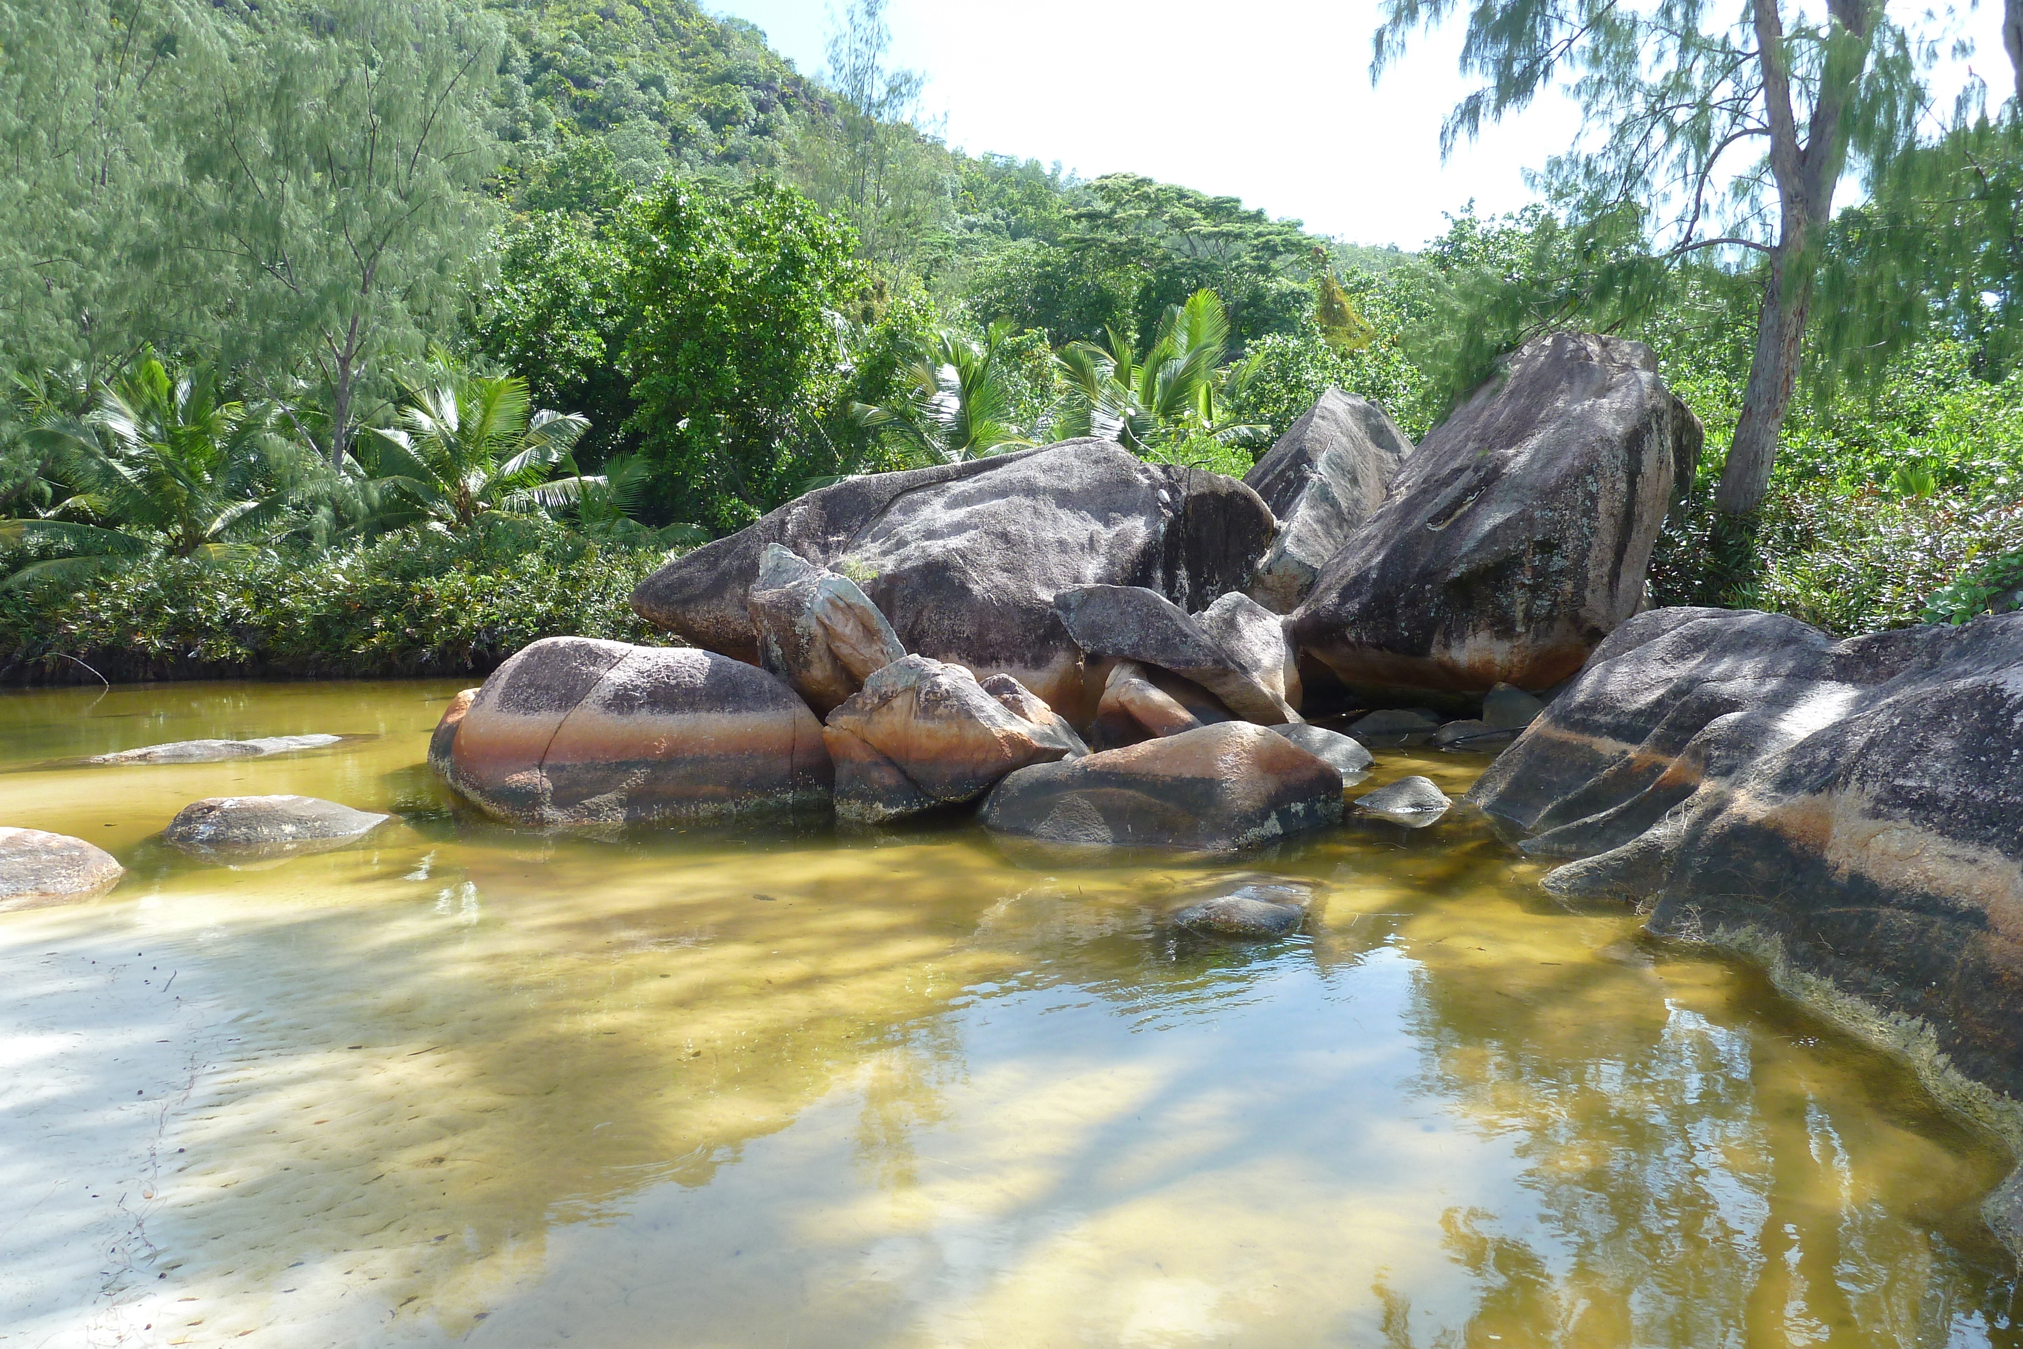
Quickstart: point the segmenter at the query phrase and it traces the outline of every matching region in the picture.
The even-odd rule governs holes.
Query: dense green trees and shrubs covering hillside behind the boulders
[[[1780,85],[1768,4],[1655,44],[1596,4],[1475,10],[1453,133],[1590,38],[1608,133],[1404,255],[949,150],[880,0],[819,77],[688,0],[0,0],[0,665],[641,637],[639,574],[813,483],[1068,435],[1242,473],[1329,384],[1424,435],[1560,326],[1651,342],[1707,423],[1659,599],[2015,605],[2017,105],[1920,133],[1879,6],[1772,34]],[[1394,0],[1380,57],[1442,14]],[[1847,125],[1784,136],[1821,89]]]

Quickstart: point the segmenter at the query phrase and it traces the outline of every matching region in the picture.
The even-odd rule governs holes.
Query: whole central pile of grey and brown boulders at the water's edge
[[[1558,334],[1418,449],[1329,390],[1244,481],[1092,439],[854,477],[647,576],[633,607],[684,645],[538,641],[429,760],[542,827],[975,809],[1250,847],[1339,821],[1370,746],[1513,738],[1639,609],[1697,455],[1649,348]],[[1428,698],[1481,716],[1398,710]],[[1380,712],[1341,734],[1317,700]]]

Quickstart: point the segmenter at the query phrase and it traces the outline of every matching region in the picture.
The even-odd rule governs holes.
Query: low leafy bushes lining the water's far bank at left
[[[0,669],[20,678],[63,653],[109,678],[488,671],[540,637],[659,641],[629,601],[668,556],[516,516],[328,554],[156,556],[83,584],[0,595]]]

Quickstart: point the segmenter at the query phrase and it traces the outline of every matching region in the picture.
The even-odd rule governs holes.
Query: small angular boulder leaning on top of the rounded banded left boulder
[[[815,716],[827,716],[866,678],[906,655],[856,580],[779,544],[767,544],[759,556],[746,609],[761,669],[785,680]]]

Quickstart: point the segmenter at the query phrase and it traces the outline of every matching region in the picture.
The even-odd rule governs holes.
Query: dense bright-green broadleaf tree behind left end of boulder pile
[[[631,429],[670,518],[736,530],[838,471],[819,425],[842,390],[850,231],[795,192],[670,182],[629,275]]]

